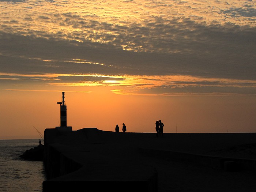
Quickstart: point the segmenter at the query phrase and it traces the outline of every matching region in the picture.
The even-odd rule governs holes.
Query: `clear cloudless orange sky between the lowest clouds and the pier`
[[[61,92],[4,91],[1,95],[1,139],[39,138],[34,127],[43,134],[45,128],[59,126]],[[253,97],[117,95],[99,87],[94,93],[67,91],[65,102],[67,125],[73,130],[112,131],[116,124],[125,123],[129,132],[154,132],[155,121],[162,120],[169,133],[176,132],[176,124],[179,133],[255,132]]]

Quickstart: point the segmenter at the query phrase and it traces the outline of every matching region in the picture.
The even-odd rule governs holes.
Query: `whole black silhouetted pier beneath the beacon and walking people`
[[[255,138],[256,133],[159,138],[97,128],[45,129],[43,192],[255,191]]]

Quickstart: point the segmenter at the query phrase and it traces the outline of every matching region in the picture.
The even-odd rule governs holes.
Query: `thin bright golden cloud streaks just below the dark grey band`
[[[116,94],[133,95],[255,95],[256,81],[237,79],[199,78],[194,76],[103,76],[103,75],[72,75],[72,74],[0,74],[0,81],[9,84],[9,87],[22,87],[4,90],[29,90],[29,86],[39,86],[34,91],[50,91],[53,87],[88,87],[85,91],[90,93],[91,87],[113,87]],[[19,82],[19,83],[17,83]],[[31,84],[31,82],[34,82]],[[67,88],[66,88],[67,89]],[[79,88],[80,89],[80,88]],[[72,90],[81,92],[81,90]]]

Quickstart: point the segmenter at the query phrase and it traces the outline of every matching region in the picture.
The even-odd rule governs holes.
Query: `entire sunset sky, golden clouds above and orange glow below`
[[[60,124],[256,132],[256,1],[0,0],[0,139]],[[35,127],[35,128],[34,128]]]

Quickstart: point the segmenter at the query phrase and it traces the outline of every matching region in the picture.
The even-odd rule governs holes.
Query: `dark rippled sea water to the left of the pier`
[[[42,192],[42,182],[46,180],[44,163],[19,157],[26,150],[38,146],[38,141],[39,139],[0,140],[0,192]]]

